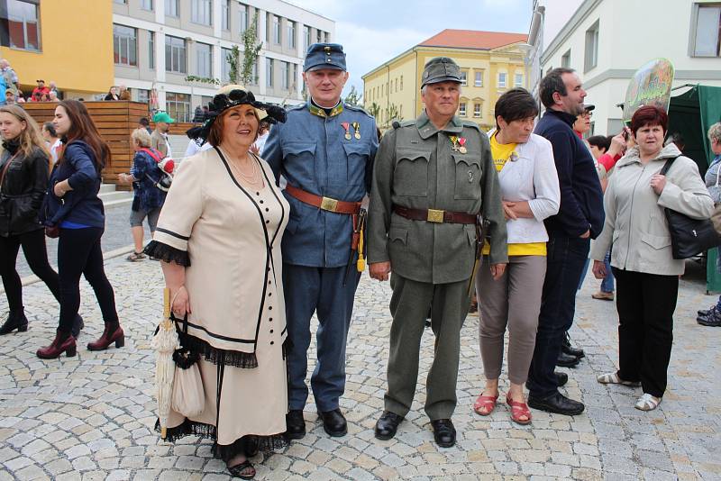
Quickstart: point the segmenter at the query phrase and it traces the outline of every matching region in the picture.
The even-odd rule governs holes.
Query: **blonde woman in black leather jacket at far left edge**
[[[15,270],[20,247],[32,273],[40,277],[59,300],[58,273],[50,268],[45,234],[38,222],[50,175],[50,153],[42,140],[38,124],[17,105],[0,107],[0,275],[3,277],[10,308],[0,335],[28,330],[23,308],[23,286]],[[73,332],[77,336],[81,319]]]

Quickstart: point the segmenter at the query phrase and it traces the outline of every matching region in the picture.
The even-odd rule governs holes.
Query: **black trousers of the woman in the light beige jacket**
[[[618,377],[662,397],[673,344],[678,276],[613,268],[618,311]]]

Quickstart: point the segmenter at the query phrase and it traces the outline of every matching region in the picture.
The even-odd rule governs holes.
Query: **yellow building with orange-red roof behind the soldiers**
[[[459,47],[434,45],[452,43],[463,32],[468,31],[443,31],[362,77],[364,107],[381,129],[388,129],[394,120],[414,119],[421,113],[421,75],[425,63],[434,57],[450,57],[461,68],[465,80],[458,110],[461,119],[478,123],[486,131],[496,125],[493,110],[497,98],[514,86],[526,87],[524,53],[518,47],[524,44],[525,35],[474,32],[490,36],[476,35],[476,41],[458,42]]]

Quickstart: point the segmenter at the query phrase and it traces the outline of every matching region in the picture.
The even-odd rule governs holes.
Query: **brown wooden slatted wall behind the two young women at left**
[[[100,135],[110,146],[113,161],[103,169],[103,182],[117,184],[118,174],[129,172],[132,165],[132,144],[130,135],[138,128],[141,117],[150,117],[148,104],[119,100],[114,102],[83,102],[88,113],[96,123]],[[39,102],[20,104],[30,113],[35,122],[50,122],[55,114],[56,102]],[[192,127],[192,123],[174,123],[170,127],[171,134],[184,134]],[[153,125],[151,125],[151,128]],[[117,184],[119,190],[130,190],[130,186]]]

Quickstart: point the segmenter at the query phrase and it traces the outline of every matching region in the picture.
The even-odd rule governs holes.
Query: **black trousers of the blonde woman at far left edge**
[[[9,237],[0,236],[0,275],[3,277],[5,295],[11,315],[23,313],[23,285],[20,282],[15,263],[17,253],[23,246],[23,254],[28,261],[32,273],[40,277],[52,295],[60,300],[60,284],[58,273],[52,270],[48,262],[48,251],[45,248],[45,231],[26,232]]]

